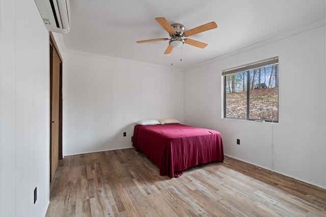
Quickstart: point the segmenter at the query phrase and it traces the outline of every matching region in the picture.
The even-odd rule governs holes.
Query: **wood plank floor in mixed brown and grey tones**
[[[171,179],[128,148],[61,160],[46,216],[326,216],[326,190],[228,157]]]

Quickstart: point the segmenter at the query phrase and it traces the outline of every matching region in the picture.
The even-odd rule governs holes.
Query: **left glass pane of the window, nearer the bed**
[[[247,118],[247,73],[226,75],[226,117]]]

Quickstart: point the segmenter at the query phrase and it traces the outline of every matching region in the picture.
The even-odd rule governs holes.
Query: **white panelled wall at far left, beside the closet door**
[[[44,216],[49,38],[33,0],[0,1],[0,82],[0,216]]]

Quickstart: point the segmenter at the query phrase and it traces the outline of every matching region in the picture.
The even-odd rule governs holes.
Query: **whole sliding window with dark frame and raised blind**
[[[278,122],[279,58],[223,70],[224,118]]]

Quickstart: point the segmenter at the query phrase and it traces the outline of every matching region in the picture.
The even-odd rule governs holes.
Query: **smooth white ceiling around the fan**
[[[211,58],[325,20],[325,1],[296,0],[70,0],[71,30],[66,49],[146,63],[188,68]],[[215,21],[218,28],[189,37],[204,49],[184,44],[164,54],[170,38],[155,17],[185,30]],[[182,61],[180,58],[182,57]]]

